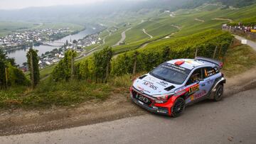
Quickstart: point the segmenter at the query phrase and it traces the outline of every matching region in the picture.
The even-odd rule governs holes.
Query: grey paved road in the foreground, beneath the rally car
[[[256,89],[188,106],[178,118],[144,116],[43,133],[0,143],[255,143]]]

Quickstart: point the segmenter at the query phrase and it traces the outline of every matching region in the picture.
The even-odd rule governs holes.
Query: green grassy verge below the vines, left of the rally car
[[[88,100],[104,100],[110,96],[112,87],[108,84],[94,84],[83,81],[52,82],[46,80],[31,91],[26,87],[14,87],[0,92],[0,108],[47,108],[70,106]]]

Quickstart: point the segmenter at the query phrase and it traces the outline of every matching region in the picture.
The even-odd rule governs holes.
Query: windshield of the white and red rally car
[[[164,65],[156,67],[156,69],[154,69],[149,74],[173,84],[183,84],[183,82],[186,80],[186,77],[188,77],[187,74],[183,74],[176,70],[171,70],[168,67],[164,67]]]

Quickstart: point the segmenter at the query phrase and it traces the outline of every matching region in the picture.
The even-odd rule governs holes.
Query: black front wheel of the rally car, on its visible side
[[[185,109],[185,100],[182,98],[176,99],[174,102],[174,106],[171,108],[171,116],[174,118],[181,116],[181,113],[183,113]]]

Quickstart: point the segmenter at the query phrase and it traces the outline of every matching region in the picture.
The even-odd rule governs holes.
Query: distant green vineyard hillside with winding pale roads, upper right
[[[191,35],[210,28],[220,29],[223,23],[230,23],[230,21],[252,21],[256,13],[255,6],[256,4],[240,9],[223,9],[222,4],[203,4],[196,9],[179,9],[172,13],[155,12],[151,16],[148,15],[146,19],[130,21],[129,28],[131,29],[126,32],[125,45],[114,47],[114,50],[127,51],[140,48],[142,45],[145,46],[145,43],[152,41],[164,43],[164,41],[171,40],[170,38]],[[127,29],[123,26],[117,26],[117,28],[118,31],[107,36],[106,43],[101,48],[117,43],[121,39],[121,33]],[[103,37],[103,35],[101,36]]]

